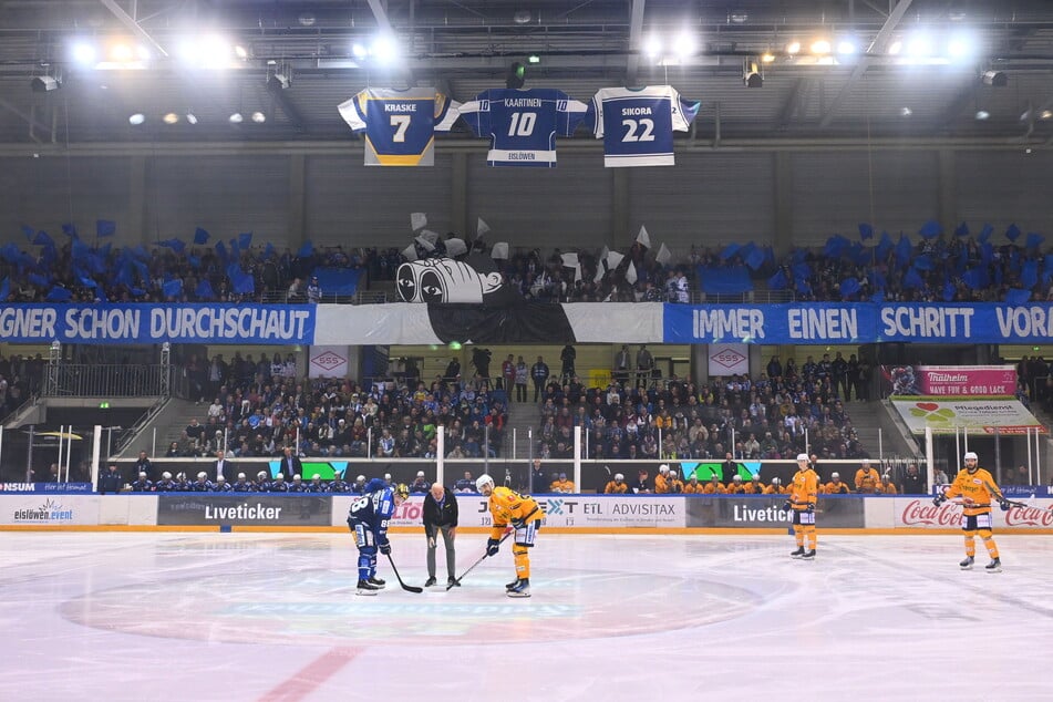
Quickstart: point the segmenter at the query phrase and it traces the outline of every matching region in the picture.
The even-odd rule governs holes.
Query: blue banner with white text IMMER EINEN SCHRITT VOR
[[[665,343],[1050,343],[1053,304],[665,304]]]

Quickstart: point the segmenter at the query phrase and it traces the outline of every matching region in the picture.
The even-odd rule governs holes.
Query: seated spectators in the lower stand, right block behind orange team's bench
[[[826,364],[798,370],[773,359],[777,372],[732,375],[695,385],[678,378],[637,375],[606,390],[548,382],[541,398],[538,453],[570,458],[574,427],[582,427],[595,460],[773,460],[811,446],[820,460],[867,453],[845,411],[842,386]]]

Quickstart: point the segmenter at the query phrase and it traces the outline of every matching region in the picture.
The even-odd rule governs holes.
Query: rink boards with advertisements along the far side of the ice
[[[347,528],[352,495],[281,494],[0,494],[0,529],[316,530]],[[421,527],[422,496],[412,496],[391,520],[393,531]],[[545,529],[559,533],[785,531],[791,514],[785,496],[746,495],[537,495]],[[492,526],[485,498],[458,497],[460,526]],[[1021,500],[995,508],[1001,531],[1053,534],[1053,499]],[[932,505],[925,496],[828,495],[819,499],[823,529],[908,533],[956,530],[961,507]]]

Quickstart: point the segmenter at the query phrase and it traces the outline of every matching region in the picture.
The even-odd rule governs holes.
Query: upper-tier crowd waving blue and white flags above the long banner
[[[753,244],[692,246],[674,259],[668,249],[638,240],[613,258],[606,249],[533,249],[512,251],[496,265],[524,298],[560,302],[686,302],[702,287],[700,268],[740,268],[756,288],[787,290],[803,301],[1053,299],[1053,255],[1043,251],[1041,235],[1029,234],[1018,242],[1020,230],[1010,227],[1008,241],[995,246],[990,227],[975,237],[964,227],[952,236],[922,231],[917,242],[905,235],[894,241],[884,234],[877,242],[835,235],[825,246],[795,247],[777,261],[771,247]],[[241,235],[249,236],[242,246],[238,239],[216,245],[169,239],[151,248],[89,246],[76,237],[59,246],[29,229],[27,236],[27,245],[0,248],[0,279],[7,281],[0,298],[8,301],[306,302],[317,268],[361,269],[370,280],[392,280],[407,260],[406,250],[394,247],[316,248],[308,242],[298,251],[279,251],[270,244],[252,246],[250,235]],[[442,238],[435,246],[415,246],[416,257],[445,251]],[[476,239],[469,252],[492,251]]]

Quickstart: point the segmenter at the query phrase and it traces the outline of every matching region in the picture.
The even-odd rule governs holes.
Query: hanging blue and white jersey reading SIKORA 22
[[[603,140],[603,165],[672,166],[673,131],[686,132],[699,103],[669,85],[603,87],[589,105],[588,124]]]

